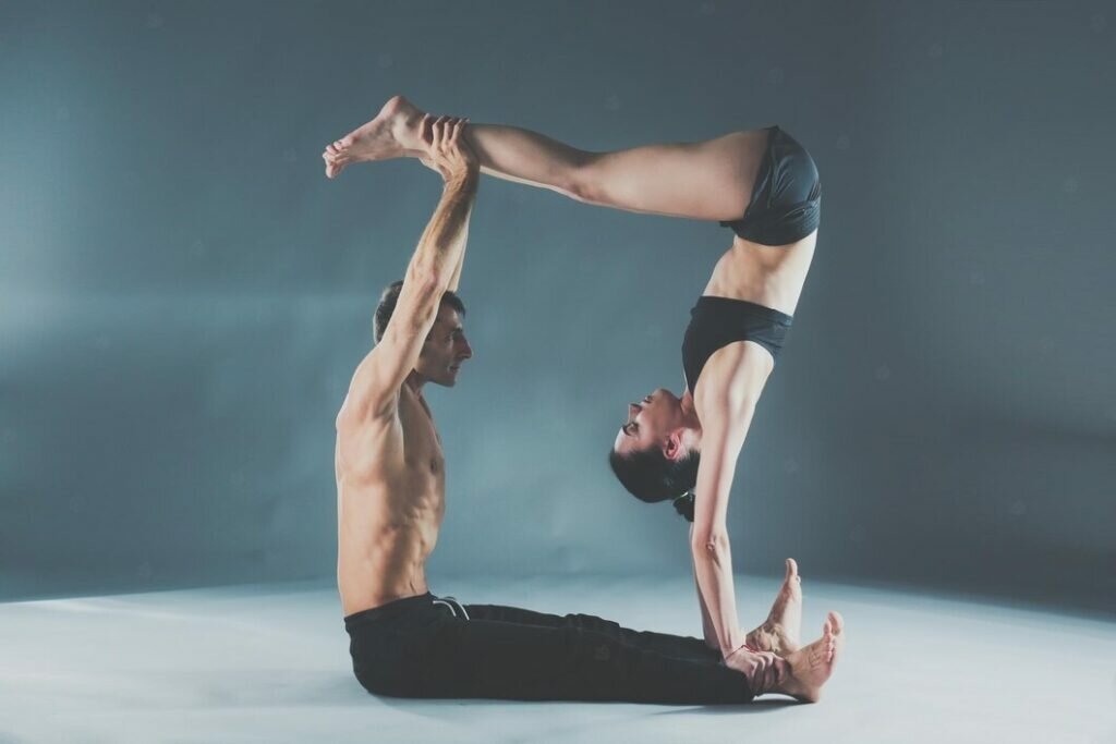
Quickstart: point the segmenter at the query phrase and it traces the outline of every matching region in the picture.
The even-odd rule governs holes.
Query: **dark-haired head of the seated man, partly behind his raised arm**
[[[384,338],[387,321],[392,319],[402,289],[403,281],[394,281],[379,298],[373,319],[373,332],[377,344]],[[422,351],[415,363],[415,371],[424,380],[445,387],[453,387],[456,384],[462,363],[473,356],[473,349],[465,339],[464,319],[465,305],[461,298],[450,291],[442,294],[437,317],[426,335],[426,340],[423,341]]]

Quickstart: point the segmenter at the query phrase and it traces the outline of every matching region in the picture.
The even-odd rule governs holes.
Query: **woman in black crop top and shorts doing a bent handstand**
[[[326,174],[357,162],[422,158],[430,122],[407,100],[392,98],[326,148]],[[795,651],[797,627],[740,629],[725,515],[740,448],[814,254],[820,190],[809,155],[778,127],[612,153],[506,126],[470,125],[465,134],[484,173],[602,206],[732,228],[732,245],[692,311],[686,388],[681,395],[660,388],[632,403],[610,458],[625,486],[645,501],[698,494],[691,549],[706,644],[734,667],[748,666],[761,631],[769,634],[768,648]],[[831,639],[819,661],[828,677],[844,640],[836,612],[824,637]]]

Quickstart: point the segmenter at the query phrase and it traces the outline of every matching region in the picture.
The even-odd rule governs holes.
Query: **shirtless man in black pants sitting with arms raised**
[[[462,119],[413,124],[417,136],[391,156],[421,157],[444,191],[402,286],[385,292],[378,344],[337,416],[337,573],[357,679],[372,693],[407,697],[713,704],[782,693],[816,700],[840,629],[829,620],[819,640],[798,647],[792,561],[768,621],[747,635],[754,646],[723,663],[719,648],[696,638],[430,593],[424,563],[444,514],[445,474],[422,392],[426,383],[452,386],[472,356],[454,290],[480,163]]]

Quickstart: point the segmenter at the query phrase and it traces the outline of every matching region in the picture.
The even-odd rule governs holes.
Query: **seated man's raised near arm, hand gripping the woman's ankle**
[[[449,118],[431,125],[427,158],[445,182],[442,199],[407,265],[383,338],[353,376],[339,424],[394,416],[400,387],[414,369],[442,294],[460,274],[480,177],[477,156],[461,136],[464,127],[464,120]]]

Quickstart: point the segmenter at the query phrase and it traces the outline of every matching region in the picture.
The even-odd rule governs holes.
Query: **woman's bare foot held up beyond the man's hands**
[[[353,163],[386,161],[424,151],[423,113],[403,96],[392,96],[376,118],[326,146],[321,158],[330,178]]]

